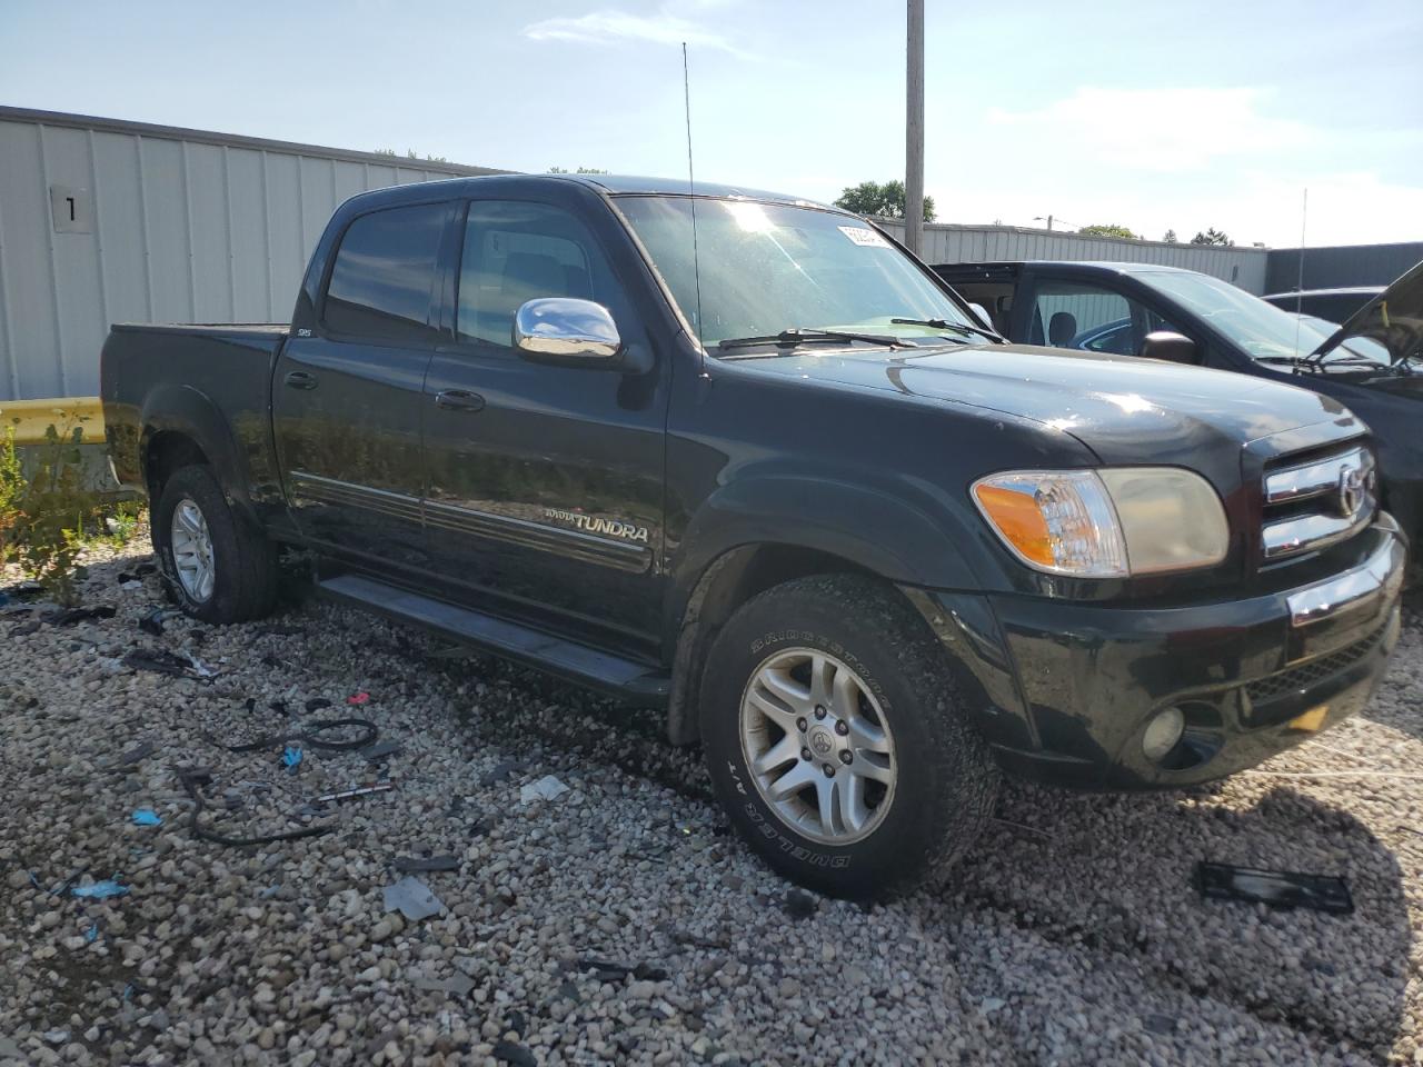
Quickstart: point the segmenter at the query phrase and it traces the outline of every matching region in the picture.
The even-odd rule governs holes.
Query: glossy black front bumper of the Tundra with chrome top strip
[[[1353,566],[1242,600],[1107,607],[918,593],[966,669],[968,700],[1005,770],[1084,788],[1187,785],[1252,767],[1365,707],[1399,636],[1406,548],[1386,515]],[[1160,763],[1150,720],[1187,728]]]

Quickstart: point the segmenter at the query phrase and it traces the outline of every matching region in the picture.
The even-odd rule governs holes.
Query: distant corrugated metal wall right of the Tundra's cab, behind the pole
[[[882,221],[879,225],[904,239],[904,223]],[[1022,226],[958,226],[931,222],[924,228],[926,263],[996,263],[1023,259],[1161,263],[1214,275],[1257,296],[1265,292],[1266,255],[1266,249],[1262,248],[1084,238]]]

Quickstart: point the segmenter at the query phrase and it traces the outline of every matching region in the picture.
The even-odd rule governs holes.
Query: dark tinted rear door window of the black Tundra
[[[431,296],[447,206],[361,215],[342,238],[326,287],[327,329],[381,341],[430,341]]]

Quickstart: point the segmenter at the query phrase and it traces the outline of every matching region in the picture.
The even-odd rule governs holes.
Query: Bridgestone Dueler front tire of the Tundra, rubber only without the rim
[[[741,750],[747,684],[768,657],[798,647],[850,666],[894,738],[889,809],[851,844],[793,829],[763,800]],[[962,714],[943,646],[895,589],[872,579],[804,578],[748,600],[712,647],[700,720],[712,782],[737,829],[773,868],[822,893],[887,898],[939,882],[993,811],[999,773]]]

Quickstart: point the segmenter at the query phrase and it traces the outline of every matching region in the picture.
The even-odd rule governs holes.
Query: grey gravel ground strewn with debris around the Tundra
[[[951,888],[861,909],[753,859],[652,713],[320,602],[145,633],[148,551],[92,553],[111,619],[0,607],[0,1064],[1423,1064],[1423,602],[1365,717],[1180,794],[1009,784]],[[223,747],[347,714],[400,751]],[[330,832],[195,839],[179,767],[221,832]],[[440,855],[443,911],[387,913]],[[1342,874],[1356,912],[1202,902],[1198,859]]]

